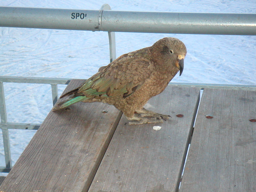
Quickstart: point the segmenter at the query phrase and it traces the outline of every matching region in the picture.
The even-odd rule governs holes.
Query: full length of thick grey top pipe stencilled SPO
[[[0,26],[113,32],[256,35],[256,14],[0,7]]]

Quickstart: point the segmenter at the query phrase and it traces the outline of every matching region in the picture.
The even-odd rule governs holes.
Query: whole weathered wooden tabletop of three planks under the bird
[[[0,191],[256,191],[256,92],[205,89],[198,109],[199,96],[169,85],[151,98],[146,108],[172,116],[162,124],[124,125],[104,103],[51,111]]]

